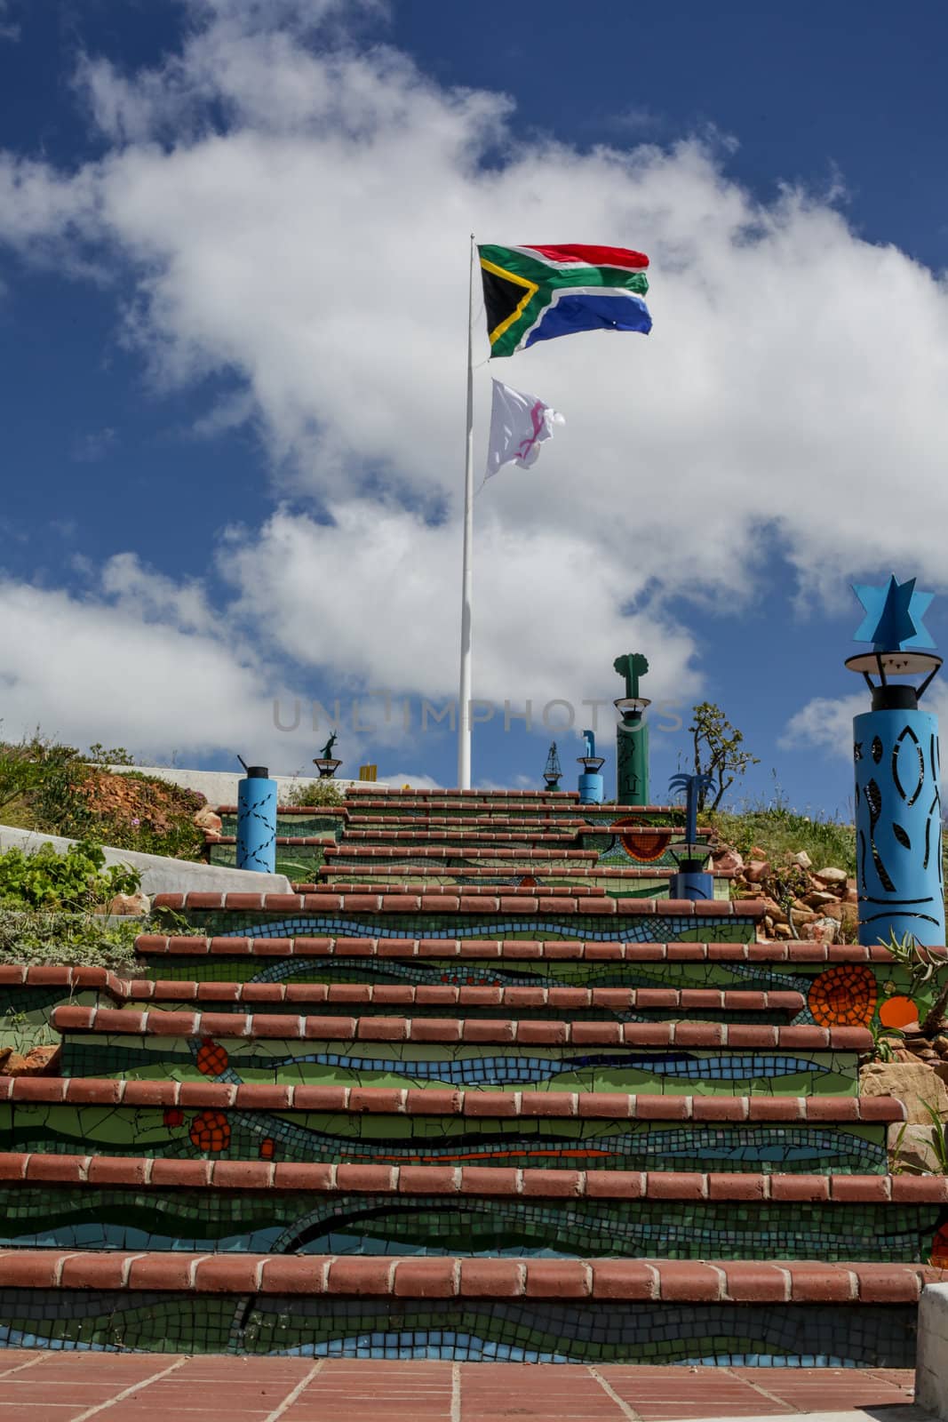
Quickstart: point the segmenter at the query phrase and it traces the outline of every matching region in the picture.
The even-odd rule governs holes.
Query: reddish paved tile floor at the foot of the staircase
[[[675,1422],[871,1408],[907,1371],[0,1354],[0,1422]],[[921,1416],[921,1413],[920,1413]]]

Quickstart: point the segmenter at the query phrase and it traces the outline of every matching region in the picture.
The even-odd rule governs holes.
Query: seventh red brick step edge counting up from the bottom
[[[561,899],[544,894],[503,894],[496,899],[466,897],[465,894],[296,894],[296,893],[159,893],[153,909],[242,910],[263,913],[594,913],[603,917],[634,914],[637,917],[715,917],[763,919],[763,899],[735,899],[731,903],[705,899]]]

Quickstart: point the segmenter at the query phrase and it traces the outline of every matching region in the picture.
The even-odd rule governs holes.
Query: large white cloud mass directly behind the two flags
[[[652,694],[686,702],[695,644],[662,600],[750,599],[769,538],[803,600],[883,562],[945,582],[941,279],[830,201],[758,203],[725,145],[524,139],[505,95],[330,46],[320,26],[345,13],[193,0],[161,68],[84,60],[102,159],[0,156],[0,240],[72,270],[126,263],[124,340],[159,384],[229,377],[199,431],[252,419],[274,493],[296,501],[223,545],[247,646],[263,629],[341,690],[453,691],[472,229],[644,247],[655,317],[648,340],[578,336],[503,364],[569,424],[537,471],[478,501],[480,695],[611,695],[613,657],[641,646]],[[488,371],[476,383],[480,431]],[[161,626],[134,560],[107,577]],[[159,616],[213,637],[202,599],[161,589]],[[813,742],[809,717],[790,734]]]

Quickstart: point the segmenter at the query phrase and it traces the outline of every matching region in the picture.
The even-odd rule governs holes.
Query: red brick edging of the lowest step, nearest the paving
[[[914,1304],[945,1271],[925,1264],[723,1260],[354,1258],[13,1250],[0,1288],[556,1298],[642,1303]]]

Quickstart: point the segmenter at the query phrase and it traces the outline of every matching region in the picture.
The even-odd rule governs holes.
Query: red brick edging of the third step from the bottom
[[[0,1076],[0,1103],[195,1106],[385,1116],[479,1116],[523,1121],[696,1121],[779,1125],[878,1125],[907,1112],[894,1096],[659,1096],[628,1092],[448,1091],[296,1086],[264,1082],[124,1081],[98,1076]]]

